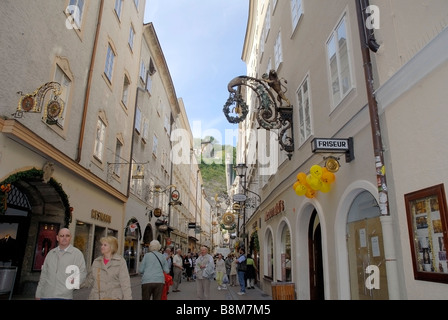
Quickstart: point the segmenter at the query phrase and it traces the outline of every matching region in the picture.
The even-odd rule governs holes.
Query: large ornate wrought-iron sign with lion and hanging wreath
[[[230,123],[244,121],[249,113],[249,107],[243,99],[242,86],[253,90],[258,98],[255,111],[258,124],[266,130],[279,130],[280,147],[286,151],[291,160],[294,152],[293,106],[285,96],[286,87],[281,80],[284,79],[280,79],[275,70],[263,74],[262,79],[249,76],[234,78],[227,85],[230,96],[223,112]]]

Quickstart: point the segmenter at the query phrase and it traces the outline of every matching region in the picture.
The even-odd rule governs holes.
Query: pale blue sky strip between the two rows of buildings
[[[213,136],[236,145],[237,124],[222,111],[227,84],[246,74],[242,61],[249,0],[146,0],[144,22],[152,22],[176,95],[182,98],[194,138]]]

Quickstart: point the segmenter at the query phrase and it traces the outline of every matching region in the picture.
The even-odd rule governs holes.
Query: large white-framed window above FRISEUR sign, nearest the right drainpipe
[[[328,63],[331,80],[333,107],[352,89],[350,59],[348,52],[347,26],[345,16],[339,22],[327,42]]]

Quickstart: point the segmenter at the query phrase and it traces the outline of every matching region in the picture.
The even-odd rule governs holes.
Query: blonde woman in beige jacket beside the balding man
[[[118,240],[101,238],[102,255],[92,263],[87,285],[92,287],[89,300],[132,300],[131,279],[126,260],[117,254]]]

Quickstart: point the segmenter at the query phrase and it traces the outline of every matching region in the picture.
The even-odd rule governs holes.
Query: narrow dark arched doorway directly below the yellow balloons
[[[310,270],[310,299],[324,300],[324,272],[322,260],[322,233],[319,216],[314,210],[308,228],[308,254]]]

